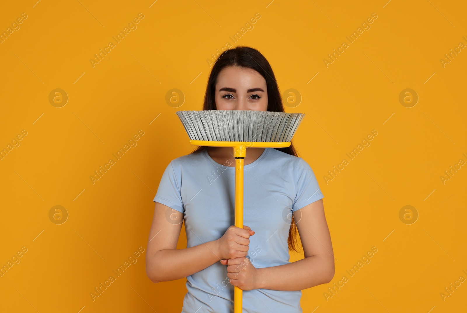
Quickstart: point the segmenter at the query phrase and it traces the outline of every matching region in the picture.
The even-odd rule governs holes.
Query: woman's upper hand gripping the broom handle
[[[218,244],[218,256],[221,259],[234,259],[248,255],[249,237],[255,232],[248,226],[243,228],[234,225],[227,228],[225,234],[216,242]]]

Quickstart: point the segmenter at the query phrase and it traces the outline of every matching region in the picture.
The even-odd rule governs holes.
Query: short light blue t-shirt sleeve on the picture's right
[[[292,212],[324,198],[323,193],[319,189],[315,174],[308,163],[302,158],[299,158],[294,169],[298,179],[296,188],[297,195],[293,202]]]

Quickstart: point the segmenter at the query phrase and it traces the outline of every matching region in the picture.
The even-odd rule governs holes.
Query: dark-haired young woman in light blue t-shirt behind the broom
[[[222,53],[209,76],[204,110],[284,112],[274,73],[253,48]],[[234,224],[233,149],[198,147],[166,167],[154,202],[146,272],[154,283],[186,277],[182,313],[301,313],[301,290],[331,281],[334,256],[324,197],[309,164],[288,148],[248,148],[244,228]],[[177,249],[185,222],[187,248]],[[289,261],[289,249],[304,259]]]

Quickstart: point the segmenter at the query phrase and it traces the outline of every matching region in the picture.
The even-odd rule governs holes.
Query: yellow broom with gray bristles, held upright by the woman
[[[289,147],[303,113],[250,110],[177,111],[190,143],[232,147],[235,157],[235,226],[243,228],[243,159],[247,148]],[[233,312],[242,313],[243,290],[234,286]]]

